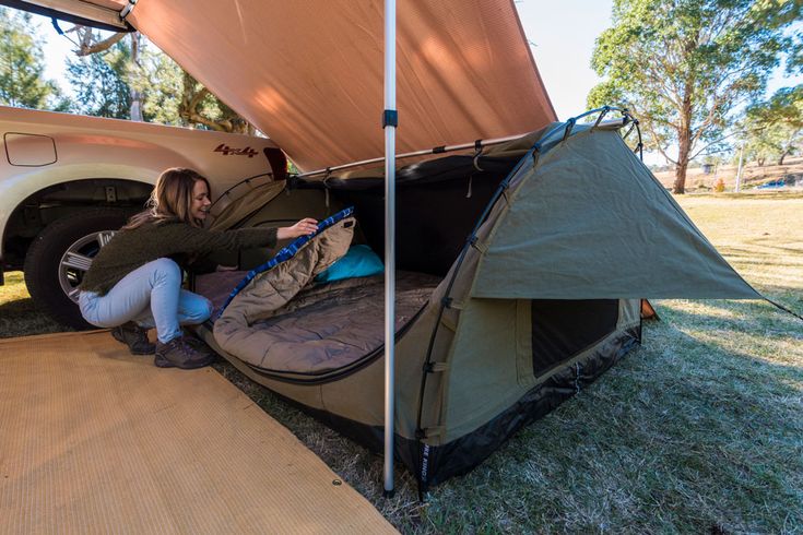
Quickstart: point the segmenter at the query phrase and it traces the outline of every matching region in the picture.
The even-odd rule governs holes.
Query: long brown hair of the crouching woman
[[[122,228],[137,228],[143,223],[177,219],[200,227],[202,222],[192,217],[192,190],[198,180],[206,183],[206,190],[211,194],[209,180],[198,171],[184,167],[166,169],[156,179],[151,199],[147,200],[147,210],[140,212],[128,221]]]

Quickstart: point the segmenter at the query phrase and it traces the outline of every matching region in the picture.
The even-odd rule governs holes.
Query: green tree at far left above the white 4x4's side
[[[67,111],[58,85],[44,80],[45,58],[31,36],[31,15],[0,8],[0,104]]]

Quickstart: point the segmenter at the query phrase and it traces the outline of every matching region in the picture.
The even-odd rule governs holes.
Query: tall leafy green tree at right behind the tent
[[[591,64],[606,80],[589,107],[622,103],[643,126],[648,148],[675,165],[683,193],[689,160],[722,136],[734,109],[757,98],[801,20],[800,0],[614,0],[613,27]],[[677,155],[666,154],[677,144]]]

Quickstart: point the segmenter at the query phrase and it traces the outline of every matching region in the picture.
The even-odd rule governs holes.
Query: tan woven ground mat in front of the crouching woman
[[[152,359],[0,341],[0,533],[393,533],[215,370]]]

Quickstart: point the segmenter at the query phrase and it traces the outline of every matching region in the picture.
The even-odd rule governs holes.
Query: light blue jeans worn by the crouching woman
[[[156,328],[160,342],[181,335],[180,325],[197,325],[212,316],[212,302],[181,288],[181,269],[161,258],[120,280],[105,296],[81,292],[81,316],[93,325],[110,328],[133,321]]]

